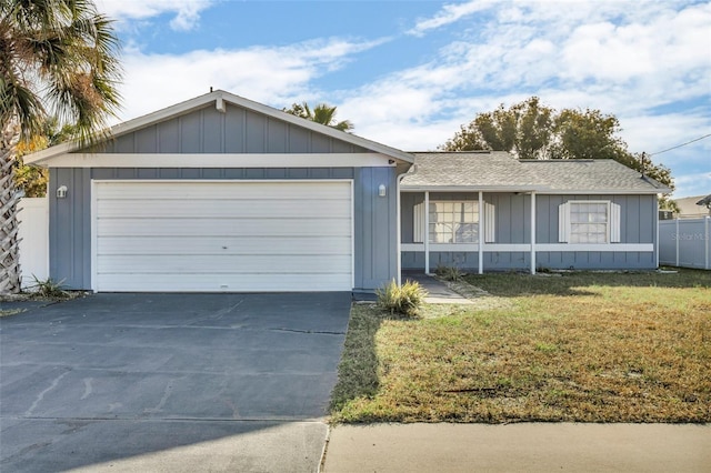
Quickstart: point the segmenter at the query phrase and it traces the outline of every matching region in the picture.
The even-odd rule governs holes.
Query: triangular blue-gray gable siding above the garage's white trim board
[[[104,153],[358,153],[368,150],[282,120],[213,104],[121,135]]]

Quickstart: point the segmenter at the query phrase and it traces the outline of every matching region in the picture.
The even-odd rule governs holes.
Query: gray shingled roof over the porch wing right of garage
[[[520,161],[504,151],[412,154],[415,167],[403,178],[403,190],[669,192],[659,182],[612,160]]]

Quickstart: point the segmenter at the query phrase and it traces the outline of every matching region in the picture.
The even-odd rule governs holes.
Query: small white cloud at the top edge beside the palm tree
[[[97,8],[119,21],[119,24],[124,20],[148,20],[174,13],[170,27],[178,31],[189,31],[200,21],[200,12],[212,3],[213,0],[97,0]]]

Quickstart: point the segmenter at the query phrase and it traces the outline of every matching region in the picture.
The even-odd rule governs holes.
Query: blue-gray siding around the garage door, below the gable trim
[[[394,168],[312,169],[50,169],[50,276],[91,289],[91,180],[353,179],[354,289],[371,291],[397,275]],[[378,195],[384,184],[388,195]],[[66,199],[57,188],[67,185]],[[318,288],[314,288],[317,290]]]

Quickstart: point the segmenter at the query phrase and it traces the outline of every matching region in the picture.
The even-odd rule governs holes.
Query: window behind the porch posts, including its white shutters
[[[430,201],[430,243],[479,243],[479,201]],[[414,205],[413,241],[424,241],[424,203]],[[494,207],[484,202],[484,241],[494,241]]]

